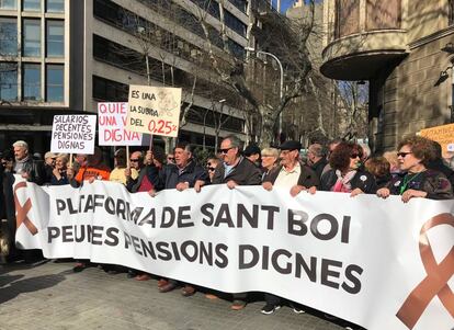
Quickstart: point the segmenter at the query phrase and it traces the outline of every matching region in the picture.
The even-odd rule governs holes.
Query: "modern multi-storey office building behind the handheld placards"
[[[191,111],[180,136],[190,143],[214,146],[216,129],[243,136],[239,103],[216,88],[202,56],[204,32],[194,22],[205,18],[219,53],[216,32],[225,29],[231,53],[243,57],[247,3],[0,1],[0,149],[25,139],[46,151],[55,114],[95,113],[98,102],[127,101],[129,84],[182,87]]]

